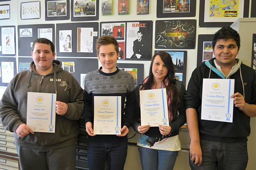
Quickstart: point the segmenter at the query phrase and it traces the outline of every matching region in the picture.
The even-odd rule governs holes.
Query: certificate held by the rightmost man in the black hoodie
[[[201,119],[233,122],[234,79],[204,78]]]

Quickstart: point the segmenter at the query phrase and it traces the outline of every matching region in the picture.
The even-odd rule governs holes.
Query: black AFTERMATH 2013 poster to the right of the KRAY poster
[[[157,20],[156,49],[194,49],[196,20]]]

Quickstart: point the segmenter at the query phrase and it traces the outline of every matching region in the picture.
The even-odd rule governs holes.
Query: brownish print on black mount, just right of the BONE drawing
[[[67,1],[66,0],[56,0],[47,2],[47,16],[57,17],[57,16],[67,16]]]

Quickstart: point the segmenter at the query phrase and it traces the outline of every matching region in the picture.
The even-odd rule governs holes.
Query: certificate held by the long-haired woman
[[[169,126],[166,89],[140,90],[141,125]]]

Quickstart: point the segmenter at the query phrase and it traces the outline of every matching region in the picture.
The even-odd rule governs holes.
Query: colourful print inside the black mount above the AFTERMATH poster
[[[163,0],[163,13],[190,12],[190,0]]]

